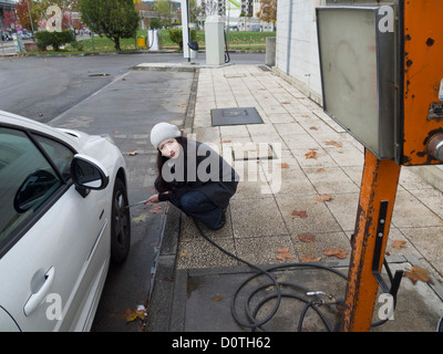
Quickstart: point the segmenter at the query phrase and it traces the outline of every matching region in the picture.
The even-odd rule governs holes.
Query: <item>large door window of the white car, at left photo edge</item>
[[[61,184],[27,134],[0,127],[0,248]]]

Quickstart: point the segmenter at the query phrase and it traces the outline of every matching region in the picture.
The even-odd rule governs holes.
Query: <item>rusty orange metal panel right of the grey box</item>
[[[441,164],[427,152],[443,133],[443,1],[404,2],[403,165]]]

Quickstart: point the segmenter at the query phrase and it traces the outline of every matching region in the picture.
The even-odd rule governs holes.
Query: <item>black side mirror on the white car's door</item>
[[[71,162],[71,176],[78,190],[104,189],[110,181],[104,166],[81,154],[75,155]]]

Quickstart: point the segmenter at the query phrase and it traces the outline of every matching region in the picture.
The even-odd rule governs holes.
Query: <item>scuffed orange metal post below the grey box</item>
[[[360,190],[359,210],[352,240],[352,254],[348,274],[343,331],[370,330],[379,283],[372,273],[375,239],[382,237],[381,271],[388,241],[389,226],[399,183],[400,166],[390,159],[380,160],[365,150],[364,170]],[[388,202],[383,221],[384,231],[378,235],[381,202]]]

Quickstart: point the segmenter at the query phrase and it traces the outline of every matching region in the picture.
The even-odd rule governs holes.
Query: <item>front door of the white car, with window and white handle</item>
[[[105,194],[75,190],[73,155],[60,140],[0,126],[0,308],[21,331],[72,330],[105,268]]]

